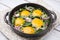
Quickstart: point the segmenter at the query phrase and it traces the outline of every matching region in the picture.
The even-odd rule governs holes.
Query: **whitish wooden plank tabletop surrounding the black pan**
[[[9,25],[5,24],[4,22],[4,15],[6,12],[13,9],[15,6],[22,4],[22,3],[37,3],[40,5],[45,6],[47,9],[56,12],[57,14],[57,27],[51,30],[48,34],[46,34],[41,39],[36,40],[60,40],[60,1],[59,0],[0,0],[0,40],[33,40],[33,39],[26,39],[18,36],[15,34]],[[55,5],[54,5],[55,4]]]

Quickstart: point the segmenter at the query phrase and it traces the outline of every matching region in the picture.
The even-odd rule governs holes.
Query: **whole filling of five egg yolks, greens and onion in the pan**
[[[26,34],[36,34],[48,27],[49,16],[40,8],[25,6],[12,17],[14,28]]]

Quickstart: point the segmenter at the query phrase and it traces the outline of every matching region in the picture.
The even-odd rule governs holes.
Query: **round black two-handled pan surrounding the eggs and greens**
[[[12,25],[12,16],[14,15],[14,12],[16,12],[17,10],[19,10],[20,8],[25,7],[26,5],[27,6],[35,7],[37,9],[38,8],[41,8],[44,12],[47,13],[47,15],[50,17],[50,19],[49,19],[50,20],[50,23],[49,23],[49,25],[48,25],[48,27],[47,27],[46,30],[44,30],[44,31],[42,31],[42,32],[40,32],[38,34],[25,34],[25,33],[22,33],[22,32],[20,32],[20,31],[18,31],[16,29],[14,29],[14,26]],[[9,20],[6,19],[7,16],[9,17],[8,18]],[[56,14],[54,12],[46,9],[45,7],[43,7],[41,5],[35,4],[35,3],[24,3],[24,4],[20,4],[20,5],[16,6],[14,9],[12,9],[10,12],[6,13],[6,15],[4,17],[5,22],[11,26],[11,28],[13,29],[13,31],[15,33],[17,33],[20,36],[27,37],[27,38],[33,38],[33,37],[36,37],[37,38],[37,37],[44,36],[47,32],[49,32],[52,29],[52,27],[53,27],[52,25],[56,21],[56,19],[57,19],[57,16],[56,16]]]

